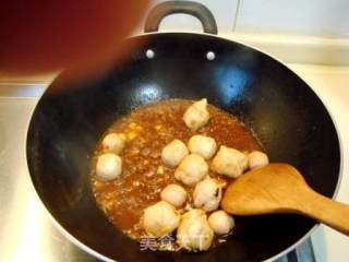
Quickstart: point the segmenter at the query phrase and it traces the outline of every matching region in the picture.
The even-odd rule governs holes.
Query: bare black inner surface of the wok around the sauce
[[[148,49],[155,53],[153,59],[145,55]],[[207,60],[207,51],[216,58]],[[335,192],[339,143],[325,107],[286,67],[240,44],[207,35],[147,36],[147,44],[127,63],[52,92],[62,84],[67,85],[64,73],[45,93],[31,121],[31,176],[59,224],[108,258],[261,261],[298,241],[315,224],[296,215],[236,217],[234,234],[208,252],[140,251],[140,245],[118,231],[98,209],[89,183],[89,157],[98,138],[119,116],[153,100],[206,97],[251,128],[272,162],[294,165],[322,194]]]

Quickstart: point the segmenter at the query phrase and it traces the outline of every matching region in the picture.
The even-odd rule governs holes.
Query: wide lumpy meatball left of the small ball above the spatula
[[[248,167],[248,157],[238,150],[221,145],[210,169],[228,177],[239,177]]]

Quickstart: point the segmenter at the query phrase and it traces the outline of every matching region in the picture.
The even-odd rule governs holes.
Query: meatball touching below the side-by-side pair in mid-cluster
[[[186,186],[194,186],[208,174],[208,165],[203,157],[196,154],[185,156],[174,171],[177,180]]]

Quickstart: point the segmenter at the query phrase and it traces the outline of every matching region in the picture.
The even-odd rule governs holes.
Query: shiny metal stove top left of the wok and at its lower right
[[[0,261],[97,262],[53,225],[27,170],[25,140],[47,83],[0,84]],[[278,262],[314,262],[310,239]]]

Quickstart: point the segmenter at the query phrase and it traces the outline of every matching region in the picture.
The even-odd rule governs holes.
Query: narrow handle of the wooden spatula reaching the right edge
[[[336,202],[312,190],[306,193],[300,213],[349,236],[349,205]]]

